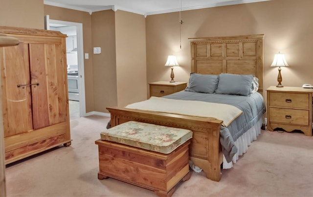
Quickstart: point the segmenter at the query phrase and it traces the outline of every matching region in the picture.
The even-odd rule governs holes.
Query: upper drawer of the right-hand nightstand
[[[269,92],[269,106],[309,109],[309,96],[304,93]]]

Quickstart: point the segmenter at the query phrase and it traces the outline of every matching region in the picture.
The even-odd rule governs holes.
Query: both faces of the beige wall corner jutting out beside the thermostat
[[[94,110],[126,106],[147,97],[145,18],[130,12],[105,10],[91,15]]]

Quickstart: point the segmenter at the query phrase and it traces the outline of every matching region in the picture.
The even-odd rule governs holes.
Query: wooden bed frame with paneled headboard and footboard
[[[200,74],[253,74],[263,93],[264,35],[190,38],[191,72]],[[126,108],[107,108],[111,126],[134,120],[193,131],[189,157],[206,174],[219,181],[223,153],[220,145],[222,120]]]

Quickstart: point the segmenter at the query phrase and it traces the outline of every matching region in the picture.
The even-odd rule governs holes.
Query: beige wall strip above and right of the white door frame
[[[86,112],[94,110],[94,92],[93,92],[93,64],[92,64],[92,44],[91,44],[91,15],[88,12],[82,12],[72,9],[45,5],[44,15],[49,15],[52,20],[79,22],[83,24],[84,53],[89,53],[89,59],[84,59],[85,72],[85,96]]]

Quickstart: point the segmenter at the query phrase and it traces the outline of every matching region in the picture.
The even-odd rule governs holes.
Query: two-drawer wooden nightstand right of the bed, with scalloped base
[[[268,130],[300,130],[312,136],[313,89],[299,87],[267,89]]]

